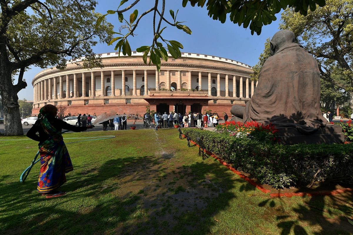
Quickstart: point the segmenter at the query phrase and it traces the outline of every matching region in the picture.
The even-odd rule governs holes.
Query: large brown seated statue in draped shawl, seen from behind
[[[276,32],[270,42],[271,56],[261,68],[255,92],[246,107],[232,107],[233,120],[296,127],[304,134],[325,127],[317,61],[294,40],[292,31]]]

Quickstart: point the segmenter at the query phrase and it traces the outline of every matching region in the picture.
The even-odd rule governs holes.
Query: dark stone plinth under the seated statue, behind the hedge
[[[295,127],[276,127],[279,144],[343,144],[345,135],[342,127],[329,124],[313,134],[305,135]]]

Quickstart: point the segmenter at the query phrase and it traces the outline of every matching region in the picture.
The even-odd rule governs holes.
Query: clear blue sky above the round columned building
[[[122,5],[120,9],[130,5],[130,2],[133,1],[128,1]],[[211,19],[207,15],[208,11],[206,6],[203,8],[197,6],[192,7],[188,3],[184,8],[181,6],[181,2],[181,0],[167,0],[164,18],[172,21],[169,9],[172,9],[174,12],[179,9],[177,20],[186,21],[183,24],[187,25],[192,30],[192,34],[186,34],[182,30],[166,23],[162,23],[162,27],[167,26],[162,34],[164,39],[179,41],[184,46],[184,49],[181,50],[182,52],[220,56],[240,61],[250,66],[254,66],[257,63],[258,57],[264,48],[266,38],[272,37],[275,32],[278,31],[281,18],[280,13],[277,14],[277,20],[270,25],[263,26],[261,35],[257,36],[256,34],[251,35],[250,29],[244,29],[242,26],[239,27],[238,24],[230,22],[229,19],[227,19],[224,24]],[[120,1],[98,0],[96,12],[105,14],[107,10],[116,10],[119,3]],[[135,9],[138,10],[140,15],[146,10],[152,8],[153,5],[154,1],[152,0],[141,0],[137,5],[125,12],[124,17],[128,19]],[[151,45],[153,35],[152,19],[153,12],[145,15],[140,20],[137,29],[134,31],[137,35],[129,37],[129,43],[132,50],[136,50],[136,48],[140,46]],[[121,23],[118,21],[117,14],[108,15],[107,20],[115,26],[115,31],[119,30]],[[94,47],[94,52],[97,54],[114,52],[114,46],[97,44]],[[24,78],[26,79],[28,86],[26,89],[23,89],[18,93],[19,99],[26,98],[27,100],[33,100],[33,87],[31,81],[41,70],[41,68],[31,67],[29,71],[25,72]]]

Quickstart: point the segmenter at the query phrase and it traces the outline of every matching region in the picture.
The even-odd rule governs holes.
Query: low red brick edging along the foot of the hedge
[[[184,138],[186,138],[186,136],[183,134],[182,135]],[[196,142],[194,142],[193,140],[190,140],[190,143],[200,147]],[[269,189],[265,189],[261,184],[256,183],[255,181],[253,181],[252,179],[250,179],[249,177],[247,177],[244,174],[241,174],[240,171],[236,170],[235,168],[231,167],[231,165],[229,165],[227,162],[223,161],[221,158],[217,157],[217,155],[215,155],[213,152],[207,151],[205,150],[206,154],[208,154],[209,156],[215,158],[216,160],[218,160],[222,165],[224,165],[225,167],[227,167],[229,170],[233,171],[233,173],[239,175],[240,178],[244,179],[245,181],[249,182],[252,186],[256,187],[257,189],[259,189],[261,192],[263,193],[270,193],[271,191]],[[299,193],[271,193],[270,197],[271,198],[280,198],[280,197],[287,197],[287,198],[291,198],[293,196],[297,196],[297,197],[313,197],[313,196],[327,196],[327,195],[335,195],[335,194],[340,194],[340,193],[345,193],[345,192],[353,192],[353,188],[342,188],[342,189],[333,189],[333,190],[321,190],[321,191],[316,191],[316,192],[299,192]]]

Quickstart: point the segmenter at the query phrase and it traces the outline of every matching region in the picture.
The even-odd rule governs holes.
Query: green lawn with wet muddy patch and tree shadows
[[[0,141],[0,234],[353,234],[352,193],[271,199],[177,129],[64,138],[102,135],[116,138],[67,145],[74,171],[53,199],[36,191],[39,164],[19,182],[37,143]]]

